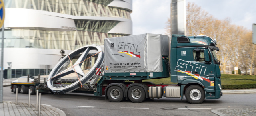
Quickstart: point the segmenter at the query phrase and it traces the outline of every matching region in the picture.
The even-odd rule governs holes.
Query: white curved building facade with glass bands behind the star
[[[132,35],[132,0],[6,0],[5,10],[4,78],[46,75],[61,49]]]

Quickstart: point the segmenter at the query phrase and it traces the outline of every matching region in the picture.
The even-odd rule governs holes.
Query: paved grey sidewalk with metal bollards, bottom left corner
[[[39,108],[39,107],[38,107]],[[41,116],[66,116],[66,114],[52,106],[41,105]],[[1,116],[38,116],[38,110],[36,110],[35,104],[30,104],[28,107],[27,103],[18,102],[3,102],[0,104],[0,115]]]

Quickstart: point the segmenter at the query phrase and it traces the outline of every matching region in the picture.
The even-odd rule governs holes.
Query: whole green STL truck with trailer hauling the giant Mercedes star
[[[104,52],[98,45],[72,51],[52,69],[46,82],[34,81],[34,89],[54,94],[91,93],[111,102],[185,96],[189,103],[200,104],[204,99],[222,96],[216,45],[216,40],[205,35],[172,35],[169,39],[167,35],[146,33],[107,38]],[[93,57],[93,50],[97,51],[97,60],[85,73],[81,67]],[[76,79],[63,78],[71,74]],[[175,84],[150,82],[161,78],[170,78]],[[12,83],[11,89],[27,85]]]

